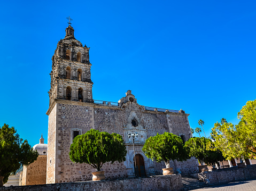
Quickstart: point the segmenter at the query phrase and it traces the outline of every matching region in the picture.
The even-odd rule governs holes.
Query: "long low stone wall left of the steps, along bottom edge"
[[[58,184],[0,187],[5,191],[130,191],[130,190],[171,190],[180,191],[183,188],[181,175],[152,176],[145,178],[129,178],[120,180],[100,180],[83,182],[64,182]]]

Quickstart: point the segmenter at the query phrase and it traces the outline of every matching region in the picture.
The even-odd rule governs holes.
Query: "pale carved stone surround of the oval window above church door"
[[[146,129],[141,124],[141,119],[139,119],[135,113],[135,111],[131,111],[130,115],[127,119],[128,123],[124,127],[125,128],[125,142],[133,143],[133,138],[129,138],[128,134],[132,132],[137,132],[138,137],[134,140],[134,143],[144,144],[147,138]]]

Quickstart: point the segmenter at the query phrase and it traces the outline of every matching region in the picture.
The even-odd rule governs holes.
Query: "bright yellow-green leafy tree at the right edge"
[[[248,101],[238,112],[240,122],[228,123],[222,118],[221,123],[214,123],[211,135],[216,147],[227,159],[256,159],[256,99]]]

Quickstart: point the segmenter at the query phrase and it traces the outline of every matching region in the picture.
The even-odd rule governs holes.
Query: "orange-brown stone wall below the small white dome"
[[[46,184],[46,155],[40,155],[37,160],[23,167],[22,186]]]

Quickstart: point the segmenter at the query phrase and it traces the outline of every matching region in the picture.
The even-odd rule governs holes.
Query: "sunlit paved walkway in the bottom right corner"
[[[256,191],[256,179],[230,182],[223,185],[195,189],[193,191]]]

